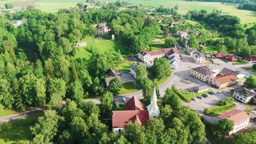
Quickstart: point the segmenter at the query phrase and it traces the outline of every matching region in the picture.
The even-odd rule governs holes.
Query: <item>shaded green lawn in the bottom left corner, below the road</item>
[[[0,143],[26,143],[32,140],[30,127],[37,122],[43,113],[19,118],[11,122],[0,124]]]

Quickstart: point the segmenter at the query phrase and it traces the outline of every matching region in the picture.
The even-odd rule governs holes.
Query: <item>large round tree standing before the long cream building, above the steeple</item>
[[[155,58],[154,65],[150,68],[150,74],[154,79],[163,79],[171,74],[171,66],[166,58]]]

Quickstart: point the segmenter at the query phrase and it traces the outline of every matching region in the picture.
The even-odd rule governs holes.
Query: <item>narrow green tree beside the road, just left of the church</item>
[[[108,115],[112,110],[112,106],[113,106],[113,94],[107,91],[106,93],[103,94],[101,98],[100,108],[103,115]]]

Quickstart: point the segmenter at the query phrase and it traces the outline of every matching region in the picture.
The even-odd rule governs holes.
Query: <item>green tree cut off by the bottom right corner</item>
[[[256,143],[256,129],[248,131],[246,133],[240,133],[236,136],[235,143],[252,144]]]

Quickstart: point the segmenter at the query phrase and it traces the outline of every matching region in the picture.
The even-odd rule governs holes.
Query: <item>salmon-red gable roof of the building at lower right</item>
[[[225,112],[222,115],[217,116],[220,119],[228,118],[234,122],[234,124],[240,123],[245,121],[246,119],[250,118],[246,112],[241,110],[231,110],[229,112]]]

